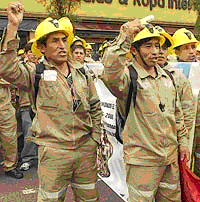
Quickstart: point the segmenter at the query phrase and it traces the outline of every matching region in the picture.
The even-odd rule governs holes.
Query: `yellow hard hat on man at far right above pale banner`
[[[196,45],[198,44],[198,41],[196,40],[194,34],[185,28],[178,29],[174,33],[172,39],[174,42],[173,48],[176,48],[178,46],[188,44],[188,43],[196,43]]]

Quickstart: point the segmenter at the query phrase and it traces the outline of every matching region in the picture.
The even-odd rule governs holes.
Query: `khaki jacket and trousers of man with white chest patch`
[[[17,39],[9,41],[7,50],[0,54],[3,61],[0,75],[29,91],[33,98],[35,74],[14,60],[18,43]],[[34,137],[30,138],[39,145],[38,201],[63,201],[63,190],[69,182],[76,201],[99,201],[95,159],[102,111],[93,80],[87,71],[85,76],[78,69],[80,63],[72,66],[68,62],[73,81],[70,88],[68,80],[56,67],[45,60],[43,63],[46,70],[39,82],[31,129]],[[52,70],[57,72],[55,80],[48,77]]]

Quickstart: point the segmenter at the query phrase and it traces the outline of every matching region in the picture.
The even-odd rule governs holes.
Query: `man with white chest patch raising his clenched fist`
[[[20,2],[10,3],[8,26],[1,44],[0,75],[34,94],[35,74],[15,60],[17,28],[23,19]],[[35,31],[32,51],[44,56],[30,140],[38,148],[38,201],[64,201],[71,184],[75,201],[99,201],[96,150],[100,144],[102,111],[90,74],[72,65],[69,19],[47,18]]]

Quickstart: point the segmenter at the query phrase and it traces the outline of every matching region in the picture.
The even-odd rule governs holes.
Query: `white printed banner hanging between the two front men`
[[[92,70],[96,77],[103,71],[101,63],[88,63],[87,68]],[[109,177],[99,176],[115,193],[124,201],[128,199],[126,186],[125,164],[123,162],[123,145],[114,137],[116,130],[116,97],[108,90],[101,79],[96,79],[95,87],[101,101],[103,111],[102,123],[108,134],[108,139],[113,145],[113,154],[108,162]]]

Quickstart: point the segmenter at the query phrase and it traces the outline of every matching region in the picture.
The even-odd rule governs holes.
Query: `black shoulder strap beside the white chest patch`
[[[41,74],[44,72],[44,70],[45,70],[45,66],[42,62],[36,65],[36,74],[35,74],[35,82],[34,82],[34,88],[35,88],[34,102],[35,103],[36,103],[37,94],[39,91],[39,82],[41,79]]]

